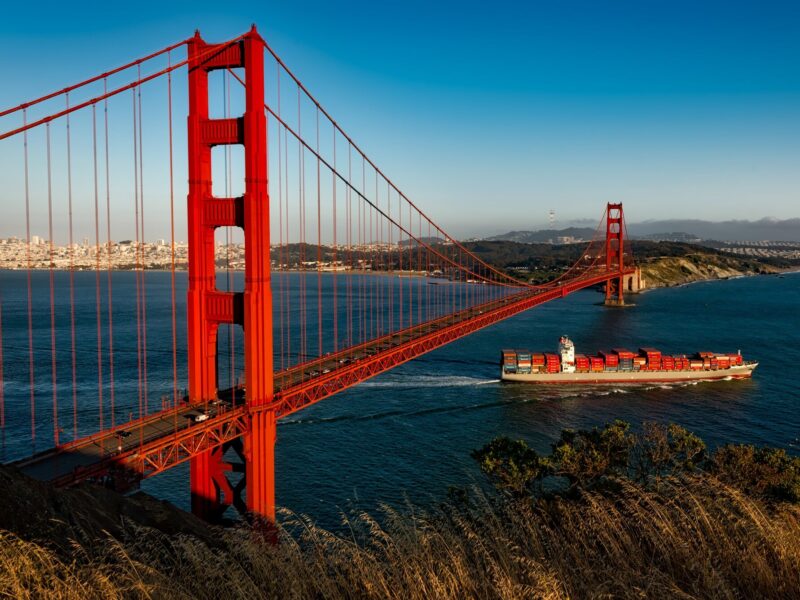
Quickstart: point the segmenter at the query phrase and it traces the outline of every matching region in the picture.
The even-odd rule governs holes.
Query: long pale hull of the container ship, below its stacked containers
[[[539,384],[620,384],[620,383],[679,383],[682,381],[714,381],[720,379],[748,379],[758,363],[736,365],[712,371],[596,371],[589,373],[506,373],[503,381]]]

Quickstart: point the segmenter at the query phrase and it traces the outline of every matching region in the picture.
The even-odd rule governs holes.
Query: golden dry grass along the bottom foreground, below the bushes
[[[410,511],[409,511],[410,512]],[[281,543],[225,548],[130,528],[65,555],[0,537],[13,598],[800,598],[800,508],[708,477],[611,497],[387,510],[333,534],[284,515]]]

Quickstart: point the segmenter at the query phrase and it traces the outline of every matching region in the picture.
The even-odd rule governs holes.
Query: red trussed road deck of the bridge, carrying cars
[[[274,400],[265,408],[274,410],[277,418],[285,417],[468,333],[619,275],[619,272],[589,273],[564,283],[525,288],[505,298],[276,372]],[[213,401],[198,404],[182,401],[175,407],[13,464],[35,479],[62,486],[87,479],[99,480],[110,472],[118,479],[125,479],[127,475],[133,482],[245,433],[245,394],[245,388],[234,388],[221,392]],[[208,418],[198,420],[200,415]]]

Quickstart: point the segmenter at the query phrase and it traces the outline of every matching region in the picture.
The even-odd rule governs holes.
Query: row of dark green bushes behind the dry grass
[[[660,486],[665,479],[693,472],[721,481],[759,498],[800,503],[800,458],[785,450],[726,445],[710,457],[705,442],[670,423],[644,423],[641,433],[616,420],[602,428],[561,432],[550,456],[539,456],[522,441],[500,437],[472,453],[481,470],[504,493],[541,496],[542,489],[566,493],[611,488],[638,482]],[[544,485],[548,478],[554,485]]]

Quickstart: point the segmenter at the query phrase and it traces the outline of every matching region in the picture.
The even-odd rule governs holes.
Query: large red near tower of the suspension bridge
[[[189,41],[189,401],[204,405],[218,397],[217,331],[220,324],[244,329],[245,402],[243,436],[246,501],[242,486],[231,486],[224,450],[206,450],[190,461],[192,511],[213,519],[226,506],[246,506],[253,515],[275,518],[272,290],[270,284],[267,122],[264,112],[264,43],[255,27],[230,44],[207,44],[199,32]],[[216,69],[244,69],[245,112],[210,119],[208,76]],[[212,194],[211,148],[244,146],[244,194]],[[243,292],[216,288],[214,231],[240,227],[245,241]]]

